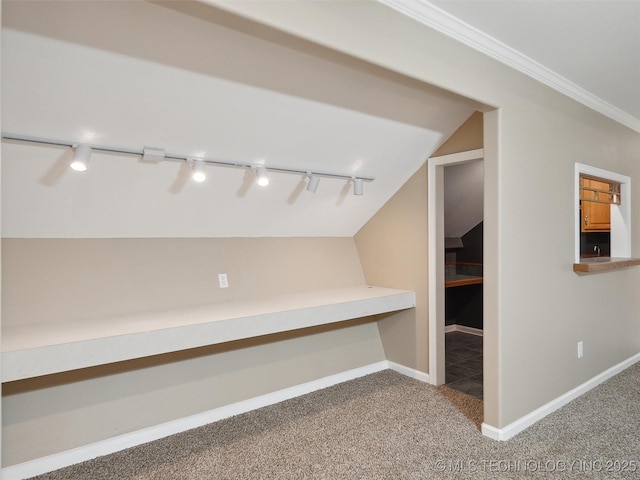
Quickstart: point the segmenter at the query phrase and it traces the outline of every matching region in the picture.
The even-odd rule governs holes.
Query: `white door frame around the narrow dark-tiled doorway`
[[[427,162],[429,215],[429,382],[445,382],[444,363],[444,167],[484,159],[484,150],[470,150]]]

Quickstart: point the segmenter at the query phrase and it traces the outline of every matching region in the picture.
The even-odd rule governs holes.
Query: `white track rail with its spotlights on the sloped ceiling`
[[[286,173],[293,175],[303,175],[308,179],[307,190],[315,192],[318,188],[319,179],[337,178],[353,182],[354,195],[362,195],[363,182],[372,182],[374,177],[348,175],[342,173],[332,173],[317,170],[302,170],[297,168],[278,167],[265,165],[262,163],[236,162],[230,160],[221,160],[216,158],[198,157],[195,155],[186,155],[179,153],[165,152],[162,148],[144,147],[142,150],[134,148],[123,148],[108,145],[97,145],[87,142],[73,142],[68,140],[55,140],[50,138],[34,137],[28,135],[20,135],[14,133],[2,133],[2,140],[31,143],[37,145],[47,145],[53,147],[73,148],[75,149],[74,159],[70,167],[77,171],[86,171],[88,162],[93,152],[115,153],[120,155],[132,155],[141,157],[145,163],[157,164],[162,161],[187,162],[193,170],[193,178],[195,181],[201,182],[206,176],[203,171],[205,165],[213,165],[218,167],[246,168],[252,170],[257,178],[258,184],[265,186],[269,184],[266,172],[273,171],[278,173]]]

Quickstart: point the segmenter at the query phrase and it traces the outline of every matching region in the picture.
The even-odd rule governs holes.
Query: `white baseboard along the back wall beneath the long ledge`
[[[135,432],[126,433],[117,437],[109,438],[100,442],[84,445],[64,452],[56,453],[46,457],[31,460],[29,462],[12,465],[2,469],[1,477],[3,480],[21,480],[33,477],[43,473],[58,470],[60,468],[75,465],[76,463],[91,460],[96,457],[108,455],[118,452],[126,448],[142,445],[143,443],[158,440],[160,438],[175,435],[192,428],[201,427],[209,423],[213,423],[225,418],[246,413],[251,410],[273,405],[291,398],[299,397],[307,393],[314,392],[323,388],[336,385],[338,383],[353,380],[355,378],[376,373],[386,369],[393,369],[400,373],[404,371],[410,372],[411,369],[402,367],[401,365],[386,360],[365,365],[363,367],[354,368],[345,372],[336,373],[327,377],[312,380],[310,382],[295,385],[293,387],[284,388],[276,392],[267,393],[258,397],[250,398],[240,402],[226,405],[220,408],[214,408],[207,412],[191,415],[188,417],[166,422],[160,425],[147,427]],[[415,371],[417,372],[417,371]],[[422,373],[422,372],[417,372]],[[410,377],[417,378],[414,375],[407,374]],[[424,374],[423,374],[424,375]],[[427,380],[428,381],[428,380]]]

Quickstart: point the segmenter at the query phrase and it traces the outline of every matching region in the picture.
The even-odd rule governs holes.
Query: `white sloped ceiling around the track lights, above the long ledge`
[[[145,164],[3,141],[5,237],[352,236],[474,108],[195,2],[3,2],[2,130],[375,177]]]

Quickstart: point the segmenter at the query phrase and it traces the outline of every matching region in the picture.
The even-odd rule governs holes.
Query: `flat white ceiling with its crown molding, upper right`
[[[380,0],[640,131],[639,0]]]

